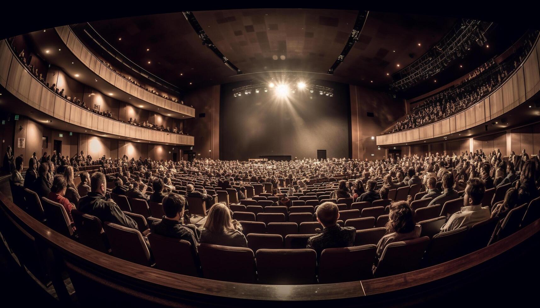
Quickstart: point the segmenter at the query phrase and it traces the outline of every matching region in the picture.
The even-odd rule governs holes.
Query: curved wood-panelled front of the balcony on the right
[[[404,145],[406,142],[460,133],[500,117],[532,98],[540,90],[539,58],[540,45],[537,38],[523,63],[487,97],[449,118],[407,131],[378,135],[377,145]]]

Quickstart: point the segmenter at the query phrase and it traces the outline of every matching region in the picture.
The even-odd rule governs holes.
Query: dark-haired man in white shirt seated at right
[[[477,222],[491,217],[489,207],[482,207],[485,184],[477,177],[469,179],[463,196],[463,207],[460,211],[452,214],[448,221],[442,225],[441,231],[451,231],[461,227],[471,227]]]

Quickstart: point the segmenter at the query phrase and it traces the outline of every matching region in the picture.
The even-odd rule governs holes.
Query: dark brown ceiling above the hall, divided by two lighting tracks
[[[359,42],[330,76],[326,72],[345,47],[357,13],[319,9],[194,12],[215,46],[244,72],[241,76],[201,44],[182,13],[91,25],[127,58],[186,90],[273,71],[309,72],[319,79],[387,88],[392,73],[400,69],[397,64],[403,67],[421,56],[457,20],[370,11]]]

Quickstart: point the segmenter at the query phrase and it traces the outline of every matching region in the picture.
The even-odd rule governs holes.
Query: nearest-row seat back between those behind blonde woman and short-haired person
[[[315,283],[317,254],[312,249],[259,249],[257,254],[259,283]],[[279,266],[276,266],[279,264]]]

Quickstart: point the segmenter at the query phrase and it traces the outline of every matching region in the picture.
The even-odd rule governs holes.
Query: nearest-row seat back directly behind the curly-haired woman
[[[427,236],[388,244],[382,252],[373,276],[378,278],[397,275],[420,268],[428,244]]]

